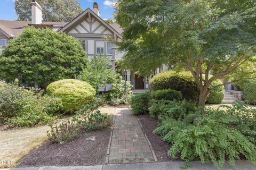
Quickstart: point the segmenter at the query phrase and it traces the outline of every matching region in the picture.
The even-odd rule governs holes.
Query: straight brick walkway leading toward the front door
[[[114,126],[106,163],[155,162],[137,117],[129,108],[116,108]]]

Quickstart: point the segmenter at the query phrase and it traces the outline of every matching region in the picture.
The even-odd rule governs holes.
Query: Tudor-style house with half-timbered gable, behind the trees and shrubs
[[[115,61],[121,60],[123,53],[118,52],[117,47],[107,41],[107,38],[122,41],[122,28],[118,24],[108,24],[100,18],[100,10],[97,3],[93,3],[92,10],[87,8],[72,21],[66,22],[44,22],[42,21],[42,7],[35,1],[31,1],[31,21],[3,21],[0,20],[0,48],[3,49],[9,40],[20,35],[23,28],[33,25],[36,28],[48,27],[58,32],[65,32],[81,41],[90,58],[100,53],[109,56],[111,63],[109,67],[115,68]],[[106,38],[107,37],[107,38]],[[159,68],[155,74],[167,70],[166,66]],[[138,77],[134,71],[127,71],[126,80],[130,81],[134,89],[147,89],[147,77]],[[108,90],[106,87],[102,90]]]

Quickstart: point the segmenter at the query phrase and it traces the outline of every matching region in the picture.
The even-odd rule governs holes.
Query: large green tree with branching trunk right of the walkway
[[[120,0],[115,18],[124,32],[117,44],[127,68],[140,74],[162,64],[186,67],[204,106],[214,80],[234,72],[238,80],[255,77],[255,67],[248,68],[256,55],[255,10],[251,0]]]

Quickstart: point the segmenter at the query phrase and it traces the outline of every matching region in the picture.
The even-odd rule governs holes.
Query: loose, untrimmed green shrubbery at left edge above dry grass
[[[47,95],[42,96],[42,92],[38,91],[1,83],[0,113],[9,118],[7,124],[29,127],[43,125],[57,118],[54,115],[60,110],[61,100]]]

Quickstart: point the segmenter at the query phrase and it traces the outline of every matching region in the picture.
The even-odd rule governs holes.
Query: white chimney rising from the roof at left
[[[31,0],[31,23],[41,24],[42,23],[42,11],[43,8],[35,1]]]

